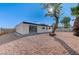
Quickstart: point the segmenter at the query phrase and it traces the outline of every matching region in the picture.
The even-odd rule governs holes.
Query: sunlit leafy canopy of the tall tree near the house
[[[61,10],[61,6],[60,6],[61,3],[44,3],[42,5],[43,5],[43,9],[47,10],[47,13],[45,14],[45,16],[59,18],[60,10]],[[51,10],[51,12],[49,11],[50,8],[53,9]]]

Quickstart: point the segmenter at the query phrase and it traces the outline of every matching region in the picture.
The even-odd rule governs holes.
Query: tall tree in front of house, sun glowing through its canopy
[[[45,3],[43,4],[43,8],[47,10],[45,16],[50,16],[55,20],[54,27],[52,26],[52,33],[55,33],[59,23],[61,3]]]

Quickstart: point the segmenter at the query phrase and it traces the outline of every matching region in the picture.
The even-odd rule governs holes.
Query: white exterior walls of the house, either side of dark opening
[[[32,25],[31,25],[32,26]],[[45,32],[52,32],[52,27],[50,29],[47,26],[37,26],[37,33],[45,33]],[[45,27],[45,29],[43,29]],[[20,23],[16,26],[16,32],[20,34],[30,34],[29,32],[30,24],[23,24]]]

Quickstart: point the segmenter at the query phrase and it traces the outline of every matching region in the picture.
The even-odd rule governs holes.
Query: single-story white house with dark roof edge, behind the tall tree
[[[30,22],[21,22],[20,24],[16,25],[16,32],[20,34],[52,32],[52,26]]]

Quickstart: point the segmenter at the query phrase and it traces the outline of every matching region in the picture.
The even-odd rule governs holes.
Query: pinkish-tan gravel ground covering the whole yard
[[[16,33],[0,37],[1,55],[75,55],[79,54],[79,37],[71,32],[57,32],[21,37]]]

